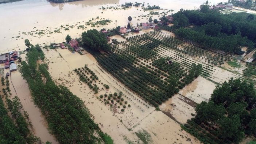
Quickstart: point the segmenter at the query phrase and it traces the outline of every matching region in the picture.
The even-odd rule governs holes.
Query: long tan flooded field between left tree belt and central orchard
[[[194,137],[186,132],[180,132],[177,122],[163,114],[156,112],[155,108],[146,104],[143,100],[129,91],[111,75],[107,74],[98,66],[96,60],[90,54],[72,54],[70,51],[58,49],[57,51],[44,50],[49,63],[49,72],[55,82],[62,83],[69,87],[71,92],[85,101],[86,107],[90,110],[94,121],[99,124],[103,132],[108,133],[115,143],[142,143],[135,135],[135,132],[147,131],[150,135],[150,143],[168,143],[175,140],[179,143],[198,143]],[[60,56],[61,55],[61,56]],[[78,81],[78,76],[72,72],[73,69],[85,64],[94,71],[101,82],[110,86],[108,91],[100,90],[98,94],[93,94],[85,83]],[[101,89],[102,85],[98,85]],[[128,101],[131,108],[125,109],[124,113],[110,109],[97,99],[97,96],[104,93],[114,93],[122,91],[124,99]],[[182,104],[183,105],[183,104]],[[191,108],[192,109],[192,108]],[[189,115],[192,112],[188,112]],[[185,121],[185,118],[183,118]],[[120,122],[122,120],[122,122]],[[152,123],[151,123],[152,122]],[[171,129],[171,130],[170,130]],[[186,141],[187,138],[191,141]],[[178,140],[177,140],[178,139]],[[174,141],[173,141],[174,142]]]

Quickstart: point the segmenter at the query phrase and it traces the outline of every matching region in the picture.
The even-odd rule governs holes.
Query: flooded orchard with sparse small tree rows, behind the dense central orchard
[[[129,42],[134,45],[139,45],[140,43],[151,43],[151,39],[158,42],[158,46],[155,46],[155,48],[152,49],[152,51],[156,53],[155,59],[168,58],[173,62],[178,62],[179,65],[184,66],[187,69],[190,68],[192,63],[201,64],[201,75],[215,83],[222,83],[231,77],[255,82],[251,78],[230,70],[226,70],[225,67],[221,66],[225,63],[225,61],[230,61],[231,55],[224,54],[220,51],[205,50],[190,44],[189,42],[183,42],[174,38],[171,32],[154,31],[128,38]],[[129,44],[121,42],[119,45],[121,45],[122,50],[129,51],[129,48],[127,48],[127,45]],[[120,52],[120,50],[116,50],[116,52]],[[144,62],[150,63],[151,61],[150,59],[146,59]]]

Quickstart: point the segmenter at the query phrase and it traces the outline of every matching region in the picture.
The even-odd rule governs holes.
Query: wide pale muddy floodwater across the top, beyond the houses
[[[150,11],[143,11],[141,7],[127,9],[107,9],[106,7],[118,7],[125,2],[145,2],[147,5],[159,5],[162,10],[159,15],[151,15],[152,18],[159,19],[161,12],[172,12],[179,9],[195,9],[206,0],[82,0],[65,4],[49,3],[46,0],[23,0],[14,3],[0,4],[0,52],[7,50],[23,50],[24,39],[29,39],[32,44],[50,44],[51,42],[63,42],[67,34],[72,38],[77,38],[83,31],[92,27],[78,29],[79,25],[86,25],[90,19],[99,17],[97,20],[112,20],[108,25],[93,27],[98,30],[101,28],[111,29],[116,26],[124,26],[128,23],[128,16],[132,16],[132,24],[148,22]],[[217,4],[221,0],[209,1],[210,4]],[[102,10],[101,7],[106,9]],[[119,7],[121,8],[121,7]],[[145,16],[145,17],[143,17]],[[70,26],[74,27],[70,27]],[[64,30],[61,26],[69,27]],[[59,32],[58,28],[61,28]],[[41,32],[41,33],[40,33]]]

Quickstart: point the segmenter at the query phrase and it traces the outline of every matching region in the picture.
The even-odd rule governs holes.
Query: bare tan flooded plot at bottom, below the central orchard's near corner
[[[162,112],[154,111],[133,130],[144,129],[151,135],[152,144],[196,144],[197,139],[182,131],[180,125]]]

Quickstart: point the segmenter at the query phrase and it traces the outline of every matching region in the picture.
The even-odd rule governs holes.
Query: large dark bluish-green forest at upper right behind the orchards
[[[183,10],[173,15],[175,34],[202,47],[243,54],[241,46],[255,48],[256,20],[248,13],[222,14],[202,6],[200,10]],[[184,28],[193,25],[193,28]]]

